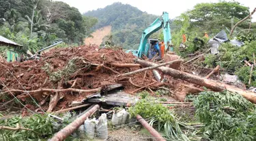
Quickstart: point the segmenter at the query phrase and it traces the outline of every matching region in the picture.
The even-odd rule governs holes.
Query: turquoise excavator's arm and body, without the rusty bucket
[[[156,31],[162,28],[162,32],[164,35],[164,43],[165,43],[165,52],[171,51],[173,52],[173,47],[171,46],[171,28],[170,28],[170,20],[169,14],[167,12],[162,12],[162,16],[157,18],[150,26],[148,26],[141,36],[141,42],[138,50],[128,50],[128,52],[132,52],[134,56],[138,56],[141,58],[142,56],[147,56],[147,58],[153,58],[156,56],[156,50],[154,50],[154,45],[158,43],[158,39],[149,39],[150,35],[156,33]],[[160,54],[158,54],[160,56]]]

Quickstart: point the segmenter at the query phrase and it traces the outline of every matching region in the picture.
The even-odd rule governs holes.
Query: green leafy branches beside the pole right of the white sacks
[[[132,117],[139,114],[144,119],[151,119],[150,124],[155,125],[159,131],[163,131],[166,138],[170,140],[188,140],[180,128],[180,125],[184,126],[184,124],[179,123],[173,113],[162,104],[145,98],[128,111]]]

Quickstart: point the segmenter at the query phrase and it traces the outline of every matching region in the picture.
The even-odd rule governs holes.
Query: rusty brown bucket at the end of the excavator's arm
[[[170,62],[170,61],[178,60],[178,59],[180,59],[180,56],[175,55],[174,52],[167,52],[167,54],[165,54],[165,56],[164,56],[165,62]],[[167,67],[178,70],[180,68],[181,63],[182,62],[175,62],[173,64],[167,65]]]

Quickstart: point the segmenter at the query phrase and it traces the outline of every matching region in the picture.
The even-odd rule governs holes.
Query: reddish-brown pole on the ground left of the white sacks
[[[96,104],[93,108],[87,111],[84,115],[79,117],[78,119],[74,120],[72,123],[70,123],[68,126],[61,129],[61,131],[57,132],[53,138],[50,139],[50,141],[62,141],[65,140],[70,134],[72,134],[76,129],[78,129],[87,119],[87,117],[90,117],[93,115],[100,106]]]

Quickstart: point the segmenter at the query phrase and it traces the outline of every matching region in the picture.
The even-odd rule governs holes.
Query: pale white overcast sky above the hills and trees
[[[168,12],[169,18],[173,19],[177,16],[180,16],[183,12],[186,12],[188,9],[193,9],[193,6],[197,3],[205,2],[218,2],[218,0],[157,0],[150,2],[149,0],[55,0],[63,1],[68,3],[72,7],[76,7],[83,14],[89,10],[104,8],[106,5],[111,5],[115,2],[121,2],[124,4],[130,4],[134,7],[141,9],[143,12],[148,14],[154,14],[160,16],[162,12]],[[152,0],[151,0],[152,1]],[[256,7],[255,0],[236,0],[246,7],[250,7],[252,11]],[[253,22],[256,22],[256,14],[252,16]]]

